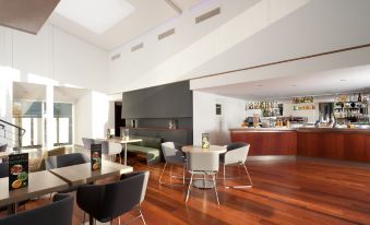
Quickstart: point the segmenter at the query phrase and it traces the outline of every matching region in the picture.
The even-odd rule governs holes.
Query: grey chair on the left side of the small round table
[[[170,165],[170,171],[169,171],[170,183],[171,183],[171,178],[174,177],[172,176],[174,165],[180,165],[182,166],[182,183],[184,185],[186,156],[182,153],[182,151],[177,150],[174,142],[165,142],[165,143],[162,143],[162,152],[163,152],[166,163],[160,173],[159,183],[167,185],[165,182],[162,182],[162,178],[166,170],[167,164],[169,164]]]

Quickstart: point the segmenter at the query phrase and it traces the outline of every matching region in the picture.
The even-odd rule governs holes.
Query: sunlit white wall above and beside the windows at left
[[[49,90],[77,86],[94,92],[75,105],[74,140],[81,144],[82,137],[104,137],[108,98],[103,93],[109,90],[108,72],[107,51],[50,24],[38,35],[0,27],[0,116],[8,121],[13,81],[45,84]]]

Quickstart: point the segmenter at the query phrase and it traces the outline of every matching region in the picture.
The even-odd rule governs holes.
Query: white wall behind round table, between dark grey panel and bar
[[[216,104],[222,115],[216,115]],[[193,143],[201,145],[202,133],[210,133],[211,144],[230,142],[230,128],[239,128],[246,119],[246,100],[203,92],[193,92]]]

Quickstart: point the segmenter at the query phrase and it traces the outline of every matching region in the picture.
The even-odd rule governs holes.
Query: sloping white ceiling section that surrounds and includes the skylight
[[[91,0],[88,1],[88,7],[84,8],[85,1],[61,0],[51,14],[49,22],[106,50],[112,50],[202,2],[202,0]],[[97,8],[102,5],[102,1],[104,1],[105,9],[103,10],[105,11],[99,12]],[[109,4],[111,4],[110,8]],[[121,20],[118,20],[119,13],[117,12],[117,7],[115,7],[116,4],[132,5],[133,10],[127,12],[128,10],[122,9],[121,14],[124,15]],[[81,9],[81,13],[76,8]],[[75,9],[74,14],[67,16],[63,12],[72,11],[71,9]],[[115,13],[118,13],[116,17],[114,16]],[[92,15],[100,16],[102,20]],[[106,31],[104,28],[97,29],[103,31],[102,33],[91,31],[91,27],[96,23],[103,23],[102,25],[104,25],[105,21],[103,20],[109,16],[111,17],[112,26],[107,26]],[[73,21],[76,17],[80,19],[80,22]]]

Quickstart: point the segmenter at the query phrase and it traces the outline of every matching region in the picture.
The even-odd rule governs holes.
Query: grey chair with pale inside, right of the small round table
[[[238,171],[240,176],[240,166],[242,166],[246,170],[250,185],[248,186],[232,186],[231,188],[249,188],[253,186],[252,179],[249,176],[246,161],[248,157],[248,152],[250,149],[250,144],[246,144],[242,142],[236,142],[227,145],[227,152],[222,154],[219,157],[220,164],[224,168],[224,186],[225,188],[230,188],[226,186],[226,166],[238,166]],[[227,179],[237,179],[236,177],[227,178]]]

